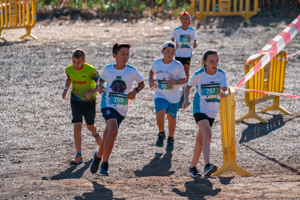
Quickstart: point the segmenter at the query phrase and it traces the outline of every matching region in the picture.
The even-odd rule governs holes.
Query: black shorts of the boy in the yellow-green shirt
[[[82,115],[87,125],[93,125],[95,123],[96,99],[88,102],[71,99],[71,109],[73,116],[72,123],[82,122]]]

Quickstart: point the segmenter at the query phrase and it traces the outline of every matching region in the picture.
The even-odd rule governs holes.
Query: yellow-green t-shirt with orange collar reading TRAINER
[[[72,80],[71,99],[85,102],[96,99],[97,92],[90,99],[85,97],[85,92],[92,91],[100,77],[95,67],[85,63],[81,70],[75,70],[71,64],[66,68],[66,74]]]

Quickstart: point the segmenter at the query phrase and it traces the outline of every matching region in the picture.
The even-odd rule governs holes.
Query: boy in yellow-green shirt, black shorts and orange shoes
[[[67,99],[66,94],[72,83],[70,100],[76,155],[74,159],[70,160],[71,164],[79,164],[83,160],[81,153],[82,115],[84,116],[86,127],[91,131],[98,145],[100,145],[102,139],[94,124],[99,73],[95,67],[85,63],[85,60],[85,52],[82,49],[75,49],[72,52],[73,64],[66,68],[67,80],[62,93],[62,98]]]

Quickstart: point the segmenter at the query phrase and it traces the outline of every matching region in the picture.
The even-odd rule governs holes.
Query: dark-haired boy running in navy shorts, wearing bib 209
[[[106,127],[99,150],[93,153],[93,161],[90,165],[92,174],[98,171],[103,156],[99,175],[109,176],[108,160],[118,135],[119,125],[127,113],[129,100],[134,99],[137,93],[145,87],[144,76],[135,67],[127,64],[130,49],[131,45],[128,43],[115,43],[113,45],[113,58],[116,59],[116,63],[106,65],[98,80],[98,92],[103,93],[101,112]],[[134,81],[138,85],[131,91]],[[104,87],[105,82],[106,88]]]

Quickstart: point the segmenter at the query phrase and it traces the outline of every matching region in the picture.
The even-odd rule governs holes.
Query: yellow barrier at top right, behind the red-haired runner
[[[239,15],[245,19],[243,23],[251,24],[250,17],[259,11],[258,0],[196,0],[190,2],[190,12],[203,23],[206,16],[232,16]],[[198,8],[198,9],[197,9]],[[198,10],[198,11],[197,11]]]

